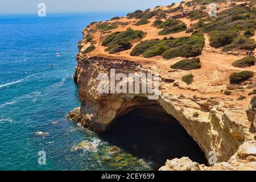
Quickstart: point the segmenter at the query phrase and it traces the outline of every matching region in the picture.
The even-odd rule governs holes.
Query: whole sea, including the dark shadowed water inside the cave
[[[66,118],[80,106],[82,29],[126,13],[0,15],[0,171],[151,171],[183,156],[207,163],[178,124],[127,115],[100,135]]]

